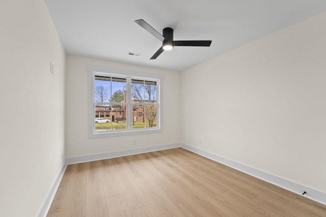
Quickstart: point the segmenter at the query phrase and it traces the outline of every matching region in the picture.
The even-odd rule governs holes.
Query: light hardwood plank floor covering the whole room
[[[326,216],[326,206],[174,148],[68,165],[47,216]]]

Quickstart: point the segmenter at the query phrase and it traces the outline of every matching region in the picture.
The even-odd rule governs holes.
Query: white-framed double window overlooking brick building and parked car
[[[162,132],[162,75],[96,66],[87,69],[89,138]],[[106,121],[95,122],[98,115]]]

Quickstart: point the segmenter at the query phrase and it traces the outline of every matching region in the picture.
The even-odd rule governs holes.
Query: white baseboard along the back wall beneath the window
[[[135,149],[129,149],[129,150],[92,154],[92,155],[87,155],[87,156],[67,158],[66,164],[76,164],[76,163],[97,161],[97,160],[103,160],[103,159],[109,159],[109,158],[117,158],[117,157],[132,155],[132,154],[147,153],[147,152],[165,150],[165,149],[177,148],[177,147],[181,147],[181,143],[156,145],[156,146],[135,148]]]

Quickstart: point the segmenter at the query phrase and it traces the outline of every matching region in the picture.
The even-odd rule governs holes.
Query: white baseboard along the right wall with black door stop
[[[204,151],[202,149],[199,149],[199,148],[196,148],[196,147],[193,147],[190,145],[181,143],[181,147],[184,149],[187,149],[189,151],[192,151],[194,153],[197,153],[203,157],[211,159],[213,161],[222,163],[226,166],[232,167],[241,172],[247,173],[249,175],[252,175],[254,177],[257,177],[259,179],[267,181],[269,183],[275,184],[283,189],[286,189],[286,190],[296,193],[298,195],[302,195],[303,192],[307,192],[307,194],[302,195],[302,196],[326,205],[326,193],[317,191],[315,189],[311,189],[302,184],[298,184],[293,181],[289,181],[287,179],[284,179],[284,178],[281,178],[281,177],[278,177],[275,175],[271,175],[269,173],[254,169],[252,167],[231,161],[229,159],[222,158],[220,156],[217,156],[216,154],[210,153],[208,151]]]

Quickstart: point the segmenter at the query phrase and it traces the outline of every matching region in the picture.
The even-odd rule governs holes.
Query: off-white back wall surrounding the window
[[[164,75],[162,92],[163,132],[134,136],[88,138],[87,65],[157,73]],[[128,150],[180,142],[180,72],[155,69],[115,61],[67,55],[67,157]],[[137,140],[137,145],[133,145]]]

